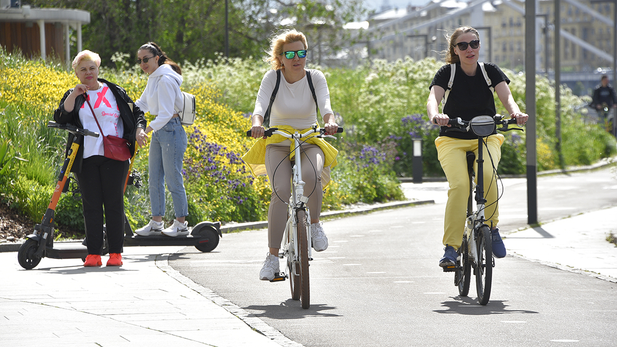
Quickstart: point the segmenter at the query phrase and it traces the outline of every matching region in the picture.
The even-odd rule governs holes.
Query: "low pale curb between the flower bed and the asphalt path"
[[[384,209],[394,209],[397,207],[407,207],[407,206],[415,206],[420,204],[434,204],[434,200],[426,200],[426,201],[395,201],[393,203],[383,203],[383,204],[374,204],[374,205],[366,205],[366,207],[358,207],[355,209],[343,210],[343,211],[328,211],[323,212],[321,217],[327,219],[334,219],[336,217],[346,217],[348,215],[354,214],[365,214],[373,211],[381,211]],[[252,230],[252,229],[261,229],[267,228],[267,221],[260,222],[247,222],[247,223],[238,223],[238,224],[229,224],[223,225],[221,227],[222,233],[230,233],[230,232],[239,232],[242,230]],[[20,243],[0,243],[0,252],[17,252],[19,248],[22,246],[22,242]],[[62,242],[57,242],[62,243]]]

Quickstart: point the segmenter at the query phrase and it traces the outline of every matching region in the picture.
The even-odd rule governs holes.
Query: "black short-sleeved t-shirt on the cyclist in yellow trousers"
[[[445,103],[444,114],[447,114],[450,119],[460,117],[463,120],[471,120],[478,115],[495,115],[495,99],[489,86],[484,80],[480,65],[477,64],[476,75],[468,76],[462,69],[460,62],[456,63],[456,73],[452,83],[452,89],[448,96],[448,101]],[[486,74],[491,79],[491,86],[505,81],[510,84],[510,80],[497,65],[492,63],[484,63]],[[450,64],[444,65],[437,71],[433,82],[429,86],[429,90],[434,85],[441,86],[445,91],[448,90],[448,82],[450,82]],[[478,138],[473,132],[445,132],[449,127],[441,127],[439,136],[449,136],[453,138],[461,138],[465,140],[473,140]]]

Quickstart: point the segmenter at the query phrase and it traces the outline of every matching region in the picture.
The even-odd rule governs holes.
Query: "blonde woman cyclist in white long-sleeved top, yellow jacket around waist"
[[[265,164],[265,170],[273,190],[268,209],[268,247],[269,252],[260,271],[260,280],[271,280],[280,272],[278,251],[283,240],[287,222],[287,202],[291,196],[291,164],[289,153],[291,140],[280,135],[263,138],[263,115],[270,104],[270,97],[275,89],[276,76],[280,70],[281,80],[276,98],[270,110],[270,126],[283,128],[290,132],[304,132],[317,123],[317,107],[307,80],[310,73],[320,113],[328,134],[336,133],[338,125],[330,106],[330,94],[326,77],[318,70],[305,70],[307,61],[307,40],[303,33],[296,30],[283,31],[275,36],[270,44],[269,56],[264,60],[270,62],[271,70],[265,73],[257,93],[255,109],[252,116],[251,135],[260,138],[242,159],[255,174],[256,165]],[[311,140],[311,139],[310,139]],[[311,237],[313,249],[324,251],[328,248],[328,238],[320,222],[321,199],[323,198],[321,173],[325,168],[336,165],[336,149],[323,139],[314,138],[302,144],[302,179],[305,191],[313,191],[307,206],[311,211]],[[310,165],[310,163],[313,165]],[[276,175],[273,173],[276,170]],[[313,187],[315,189],[313,190]]]

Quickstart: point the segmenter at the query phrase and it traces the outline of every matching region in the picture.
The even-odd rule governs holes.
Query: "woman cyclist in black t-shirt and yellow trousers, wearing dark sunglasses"
[[[448,121],[460,117],[471,120],[478,115],[494,115],[493,91],[518,125],[527,122],[529,116],[520,111],[514,101],[508,83],[510,80],[497,65],[478,62],[480,40],[478,31],[471,27],[457,28],[449,38],[444,65],[437,71],[429,86],[430,94],[426,110],[431,123],[441,126],[435,140],[437,156],[449,183],[448,201],[445,205],[444,246],[445,253],[439,266],[457,263],[457,249],[463,240],[466,207],[469,196],[466,152],[478,152],[478,137],[469,133],[445,132]],[[452,71],[452,69],[455,69]],[[452,73],[454,72],[454,73]],[[443,111],[439,103],[446,98]],[[484,189],[486,190],[487,224],[492,225],[491,240],[495,257],[505,257],[506,250],[499,235],[499,209],[497,208],[497,165],[501,158],[504,137],[495,131],[487,140],[484,159],[492,165],[484,165]]]

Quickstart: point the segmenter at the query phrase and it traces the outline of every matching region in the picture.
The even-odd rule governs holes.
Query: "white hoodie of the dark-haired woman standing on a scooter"
[[[154,131],[164,127],[173,114],[182,111],[182,80],[169,64],[160,65],[148,77],[146,89],[135,104],[141,111],[156,116],[149,124]]]

